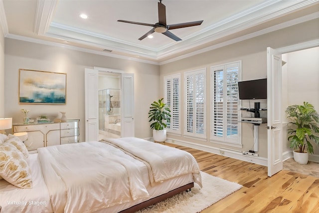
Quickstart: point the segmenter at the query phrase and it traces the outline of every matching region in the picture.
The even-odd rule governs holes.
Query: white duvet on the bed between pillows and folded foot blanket
[[[39,148],[38,157],[55,213],[94,212],[149,199],[137,160],[108,144]]]

